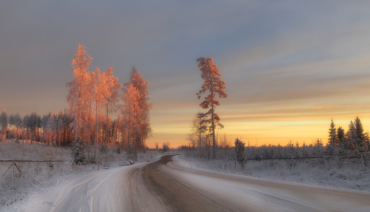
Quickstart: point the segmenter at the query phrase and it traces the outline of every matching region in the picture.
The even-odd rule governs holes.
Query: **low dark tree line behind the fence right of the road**
[[[199,112],[198,112],[199,113]],[[198,113],[195,114],[190,124],[190,132],[185,140],[187,145],[178,147],[179,151],[185,151],[194,157],[210,158],[212,144],[212,132],[205,125]],[[290,158],[290,157],[320,157],[326,156],[364,156],[370,157],[369,132],[364,131],[361,120],[357,116],[350,121],[347,132],[339,126],[335,128],[333,119],[330,123],[329,137],[324,144],[322,139],[313,139],[309,144],[303,141],[289,140],[286,145],[262,144],[260,146],[245,146],[238,138],[235,143],[224,133],[215,139],[216,158]],[[239,147],[243,149],[240,155]],[[242,161],[242,160],[240,160]]]

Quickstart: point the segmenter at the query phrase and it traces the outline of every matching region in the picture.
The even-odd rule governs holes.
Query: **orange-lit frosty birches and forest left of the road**
[[[19,113],[8,117],[4,109],[0,115],[0,139],[54,146],[72,143],[81,147],[73,148],[82,151],[78,153],[80,163],[99,163],[102,154],[107,157],[108,143],[114,143],[117,151],[124,148],[129,158],[137,160],[138,151],[145,151],[145,141],[152,134],[148,81],[132,67],[130,81],[122,86],[112,68],[106,72],[99,68],[88,71],[91,60],[85,47],[78,44],[71,62],[74,78],[66,84],[69,109],[58,114],[50,112],[42,118],[33,112],[23,119]],[[117,118],[112,120],[111,115],[117,112]]]

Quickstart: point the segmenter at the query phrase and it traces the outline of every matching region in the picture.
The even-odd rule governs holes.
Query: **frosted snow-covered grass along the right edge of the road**
[[[182,165],[202,170],[212,170],[231,174],[247,175],[263,179],[294,182],[305,185],[317,185],[332,188],[356,189],[370,192],[370,174],[363,171],[325,170],[320,161],[295,161],[295,166],[289,166],[290,160],[248,161],[243,169],[238,162],[225,160],[207,160],[191,155],[179,155]],[[190,165],[191,160],[191,165]],[[289,168],[288,168],[289,166]]]

